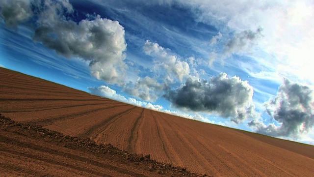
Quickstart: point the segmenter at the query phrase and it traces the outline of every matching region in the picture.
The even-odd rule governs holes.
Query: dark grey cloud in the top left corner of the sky
[[[0,17],[7,27],[17,27],[33,16],[30,0],[1,0]]]

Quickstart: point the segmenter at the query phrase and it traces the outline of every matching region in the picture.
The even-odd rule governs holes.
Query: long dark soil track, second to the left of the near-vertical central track
[[[117,108],[117,107],[123,107],[123,106],[129,106],[129,105],[123,104],[123,105],[117,105],[117,106],[109,106],[106,108],[98,108],[98,109],[93,109],[93,110],[89,110],[89,111],[85,111],[85,112],[78,112],[76,114],[65,115],[65,116],[61,116],[61,117],[57,117],[57,118],[34,119],[34,120],[28,121],[27,123],[35,124],[35,125],[41,125],[44,127],[44,126],[52,125],[56,121],[61,121],[64,119],[73,119],[73,118],[76,118],[76,117],[81,116],[81,115],[86,116],[86,115],[89,115],[89,114],[92,114],[92,113],[95,113],[98,111],[103,111],[103,110]]]

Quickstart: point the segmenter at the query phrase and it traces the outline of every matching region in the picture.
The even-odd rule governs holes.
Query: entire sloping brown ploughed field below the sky
[[[3,68],[0,113],[19,122],[0,122],[4,176],[314,174],[313,146],[138,108]]]

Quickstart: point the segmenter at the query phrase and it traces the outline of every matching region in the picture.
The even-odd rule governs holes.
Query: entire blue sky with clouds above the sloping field
[[[313,0],[1,0],[0,67],[314,145]]]

